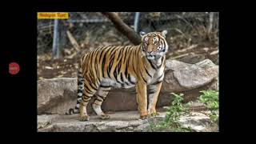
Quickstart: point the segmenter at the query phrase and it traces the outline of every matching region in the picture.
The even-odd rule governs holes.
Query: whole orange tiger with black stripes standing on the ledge
[[[135,86],[139,119],[158,115],[156,104],[166,66],[167,30],[139,34],[142,42],[138,46],[101,46],[82,55],[77,104],[69,114],[80,113],[81,121],[89,121],[86,106],[94,97],[94,112],[101,119],[108,119],[110,115],[101,106],[111,88]]]

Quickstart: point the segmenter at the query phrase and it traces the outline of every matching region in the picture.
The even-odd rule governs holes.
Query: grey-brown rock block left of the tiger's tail
[[[38,81],[38,114],[65,114],[75,105],[77,78],[52,78]]]

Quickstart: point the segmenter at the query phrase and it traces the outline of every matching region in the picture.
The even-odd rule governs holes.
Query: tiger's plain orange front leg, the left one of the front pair
[[[138,102],[138,111],[141,119],[147,118],[147,98],[146,98],[146,83],[139,82],[136,85],[136,97]]]

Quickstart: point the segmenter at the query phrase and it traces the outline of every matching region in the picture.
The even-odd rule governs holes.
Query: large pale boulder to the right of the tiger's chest
[[[176,60],[166,61],[166,75],[162,91],[179,92],[206,86],[218,78],[218,66],[209,59],[196,64]],[[218,88],[216,87],[218,90]]]

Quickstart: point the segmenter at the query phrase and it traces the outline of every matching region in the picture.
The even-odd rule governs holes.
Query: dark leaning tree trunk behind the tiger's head
[[[110,21],[113,22],[115,28],[124,34],[134,45],[138,45],[142,42],[141,37],[127,26],[125,22],[122,22],[122,19],[119,18],[117,14],[114,12],[102,12],[102,14],[109,18]]]

